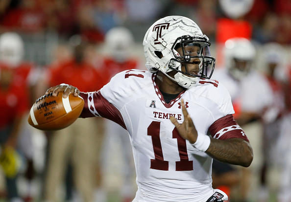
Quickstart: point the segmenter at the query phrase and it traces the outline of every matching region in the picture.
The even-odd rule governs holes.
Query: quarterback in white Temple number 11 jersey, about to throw
[[[134,202],[227,200],[212,188],[212,159],[248,167],[253,152],[228,91],[210,80],[209,39],[192,20],[168,16],[147,30],[143,45],[147,71],[122,71],[99,91],[58,85],[46,93],[80,95],[81,117],[105,117],[127,130],[137,174]]]

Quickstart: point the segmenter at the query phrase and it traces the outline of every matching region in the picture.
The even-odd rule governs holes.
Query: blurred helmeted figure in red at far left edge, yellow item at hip
[[[2,118],[0,126],[1,166],[5,174],[7,199],[11,201],[22,201],[17,188],[17,177],[20,168],[20,164],[17,161],[20,159],[17,159],[16,149],[22,119],[28,110],[29,96],[26,91],[26,86],[18,85],[16,70],[14,68],[19,65],[22,59],[21,55],[24,50],[23,43],[17,34],[13,35],[14,39],[17,39],[12,44],[12,46],[16,46],[16,49],[14,49],[8,44],[9,39],[6,42],[7,36],[9,38],[7,33],[0,36],[0,108],[1,113],[7,115],[7,117]],[[12,154],[10,158],[9,151]],[[6,162],[4,162],[5,158]]]

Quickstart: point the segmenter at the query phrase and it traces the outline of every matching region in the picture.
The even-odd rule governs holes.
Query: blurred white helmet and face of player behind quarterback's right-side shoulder
[[[236,79],[245,77],[256,57],[255,46],[246,38],[232,38],[224,46],[225,67]]]

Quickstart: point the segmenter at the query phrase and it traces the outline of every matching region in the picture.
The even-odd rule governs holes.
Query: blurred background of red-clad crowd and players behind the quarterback
[[[168,15],[210,38],[254,148],[249,168],[214,163],[213,185],[229,202],[291,202],[291,0],[0,0],[0,200],[131,202],[126,131],[95,118],[42,132],[27,114],[51,86],[94,91],[145,69],[145,32]]]

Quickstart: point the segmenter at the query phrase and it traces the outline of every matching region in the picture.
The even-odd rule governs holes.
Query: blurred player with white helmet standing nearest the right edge
[[[276,159],[280,158],[277,151],[277,140],[280,135],[282,116],[285,111],[283,85],[280,80],[281,72],[284,72],[283,47],[277,43],[268,43],[262,47],[263,61],[265,65],[265,75],[271,87],[273,95],[272,107],[264,117],[262,136],[262,167],[260,177],[260,187],[258,201],[267,202],[269,200],[269,169],[274,166]]]

